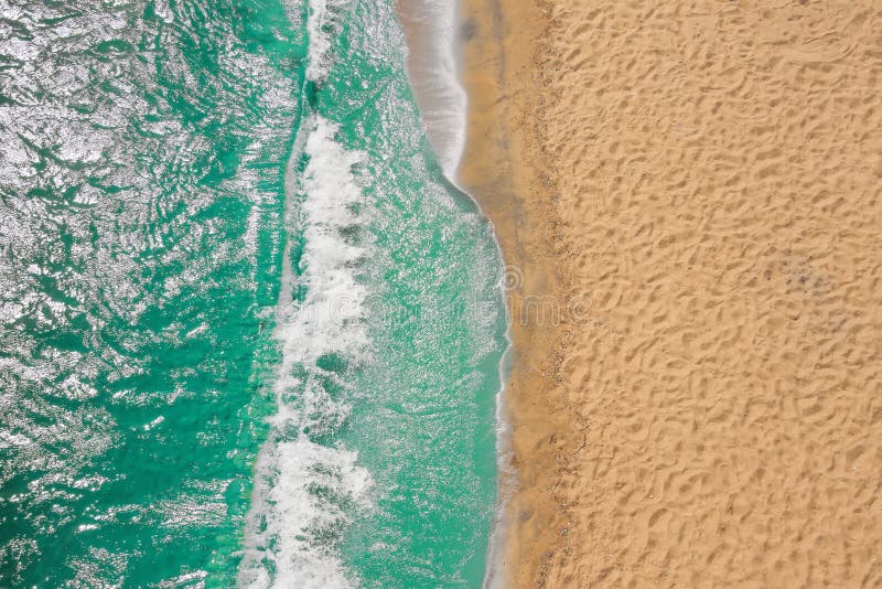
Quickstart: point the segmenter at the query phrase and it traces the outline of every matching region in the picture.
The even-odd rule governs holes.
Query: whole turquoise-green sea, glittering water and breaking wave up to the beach
[[[505,349],[391,0],[0,1],[0,586],[474,587]]]

